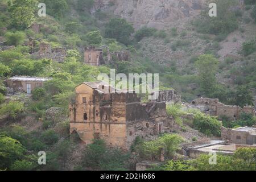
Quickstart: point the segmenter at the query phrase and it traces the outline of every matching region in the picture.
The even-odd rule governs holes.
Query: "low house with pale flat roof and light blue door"
[[[6,85],[8,88],[12,89],[13,92],[25,92],[31,94],[35,88],[42,87],[44,82],[49,79],[50,78],[14,76],[6,80]]]

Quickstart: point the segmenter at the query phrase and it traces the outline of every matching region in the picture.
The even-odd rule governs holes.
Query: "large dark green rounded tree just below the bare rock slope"
[[[113,18],[105,26],[105,35],[107,38],[117,39],[123,44],[130,43],[130,36],[134,32],[132,24],[122,18]]]

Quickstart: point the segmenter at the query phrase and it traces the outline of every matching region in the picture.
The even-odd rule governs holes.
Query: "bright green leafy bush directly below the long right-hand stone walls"
[[[215,118],[203,113],[196,113],[193,119],[193,127],[205,135],[220,137],[221,123]]]

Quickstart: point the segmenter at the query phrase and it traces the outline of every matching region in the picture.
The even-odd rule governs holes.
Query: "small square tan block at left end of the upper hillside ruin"
[[[104,64],[103,51],[93,46],[86,47],[84,51],[84,63],[92,66]]]

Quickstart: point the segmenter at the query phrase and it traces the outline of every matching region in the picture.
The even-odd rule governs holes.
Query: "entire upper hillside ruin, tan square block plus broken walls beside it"
[[[99,66],[102,64],[112,63],[115,61],[130,61],[130,51],[116,51],[110,52],[108,47],[106,48],[106,57],[104,58],[103,49],[96,48],[94,46],[89,46],[85,48],[84,51],[84,63],[92,66]]]

